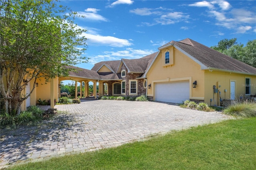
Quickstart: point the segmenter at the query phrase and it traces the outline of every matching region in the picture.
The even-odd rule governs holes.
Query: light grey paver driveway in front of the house
[[[156,102],[82,100],[56,105],[59,114],[37,127],[1,130],[1,166],[42,160],[144,138],[150,134],[216,123],[231,117]]]

